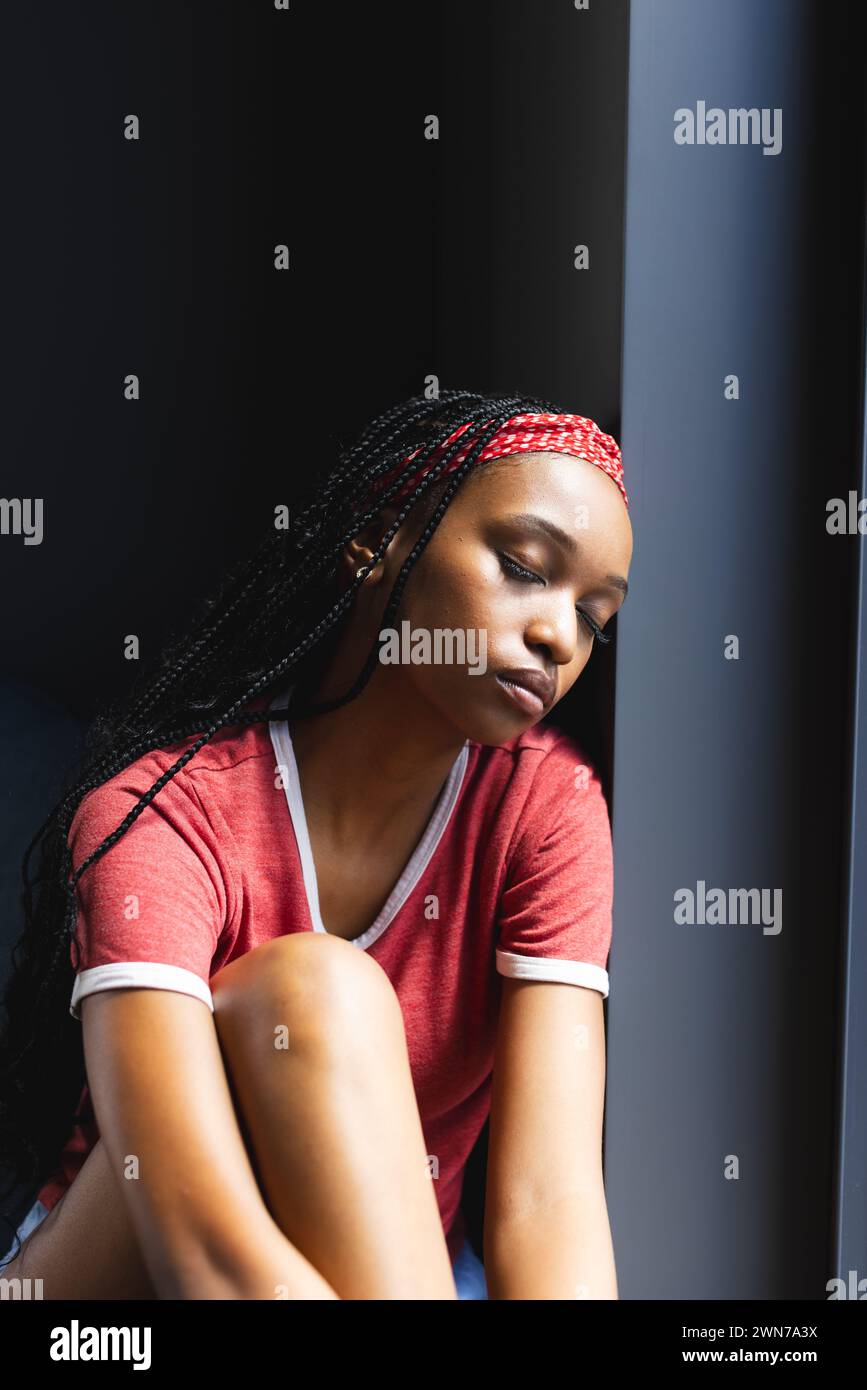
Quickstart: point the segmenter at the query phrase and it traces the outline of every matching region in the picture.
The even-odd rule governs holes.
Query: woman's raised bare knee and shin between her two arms
[[[385,970],[303,931],[249,951],[211,990],[242,1133],[286,1237],[342,1298],[456,1298]]]

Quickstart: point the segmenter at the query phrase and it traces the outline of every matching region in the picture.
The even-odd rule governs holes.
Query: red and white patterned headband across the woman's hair
[[[489,423],[489,421],[488,421]],[[438,445],[432,457],[425,463],[424,471],[427,473],[432,464],[442,459],[447,446],[453,443],[459,435],[470,428],[470,424],[459,425],[443,443]],[[393,480],[402,468],[414,459],[417,453],[421,452],[414,449],[413,453],[392,468],[389,474],[383,478],[378,478],[372,492],[379,492],[389,480]],[[464,461],[470,449],[472,448],[472,441],[470,441],[463,449],[459,449],[456,456],[449,461],[449,466],[443,473],[439,474],[445,478],[453,468]],[[503,459],[511,453],[571,453],[578,459],[585,459],[588,463],[596,464],[603,473],[617,484],[622,493],[622,499],[629,506],[629,499],[627,498],[627,489],[624,486],[624,470],[621,453],[617,442],[611,435],[604,434],[603,430],[593,420],[588,420],[585,416],[570,416],[570,414],[529,414],[529,416],[511,416],[510,420],[503,421],[497,432],[492,439],[488,441],[485,448],[478,456],[477,463],[484,463],[488,459]],[[421,482],[422,474],[417,470],[414,475],[400,488],[396,496],[392,499],[397,502],[407,496],[413,489]]]

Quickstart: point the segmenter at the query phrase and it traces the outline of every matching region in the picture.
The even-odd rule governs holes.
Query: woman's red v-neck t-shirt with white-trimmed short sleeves
[[[69,827],[75,867],[193,742],[146,753],[86,794]],[[220,730],[82,874],[78,894],[74,1017],[86,994],[128,986],[193,994],[213,1011],[208,981],[229,960],[289,931],[324,931],[285,720]],[[452,1258],[465,1234],[464,1165],[490,1105],[500,977],[607,995],[611,906],[609,813],[581,746],[545,723],[497,746],[467,739],[415,851],[353,942],[400,1001]],[[46,1207],[97,1138],[85,1086],[39,1193]]]

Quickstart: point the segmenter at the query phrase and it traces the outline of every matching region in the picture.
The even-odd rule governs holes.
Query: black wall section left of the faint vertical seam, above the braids
[[[78,714],[434,357],[436,51],[374,26],[395,50],[350,4],[17,15],[4,493],[44,539],[0,546],[3,670]]]

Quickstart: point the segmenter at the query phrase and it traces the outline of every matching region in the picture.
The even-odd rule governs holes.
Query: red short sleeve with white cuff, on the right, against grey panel
[[[614,863],[602,784],[565,735],[540,760],[507,855],[496,967],[609,994]]]

